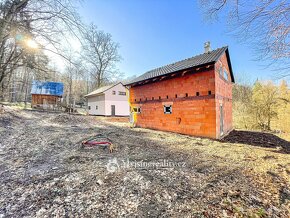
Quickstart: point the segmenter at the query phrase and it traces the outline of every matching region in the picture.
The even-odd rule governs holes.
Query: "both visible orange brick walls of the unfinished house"
[[[219,66],[226,70],[229,81],[219,75]],[[135,116],[136,126],[220,138],[220,104],[224,108],[224,134],[232,129],[229,72],[224,54],[211,68],[131,87],[130,104],[141,107],[141,113]],[[197,92],[199,96],[196,96]],[[172,114],[164,114],[164,105],[172,105]]]

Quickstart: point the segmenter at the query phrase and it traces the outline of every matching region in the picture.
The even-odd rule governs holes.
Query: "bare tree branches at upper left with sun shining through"
[[[78,37],[81,29],[72,1],[1,0],[0,87],[4,87],[4,81],[9,81],[17,68],[46,73],[47,68],[39,64],[43,51],[65,58],[60,51],[61,39],[68,32]]]

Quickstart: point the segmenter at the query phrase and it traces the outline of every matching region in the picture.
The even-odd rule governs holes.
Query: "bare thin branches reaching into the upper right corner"
[[[200,3],[209,19],[218,18],[224,11],[231,32],[253,45],[258,60],[275,66],[280,76],[290,75],[288,0],[200,0]]]

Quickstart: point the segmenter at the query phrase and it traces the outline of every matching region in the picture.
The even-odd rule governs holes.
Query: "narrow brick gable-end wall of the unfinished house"
[[[219,74],[219,68],[222,67],[228,74],[228,81]],[[232,78],[228,66],[226,54],[223,54],[220,60],[215,64],[215,87],[216,87],[216,125],[217,138],[220,137],[220,105],[223,105],[224,116],[224,134],[232,130]],[[224,70],[223,70],[224,72]]]

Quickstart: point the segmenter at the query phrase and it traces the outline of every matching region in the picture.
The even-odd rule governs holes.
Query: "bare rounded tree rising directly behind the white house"
[[[121,60],[119,45],[109,33],[98,30],[94,24],[87,27],[82,43],[82,57],[85,59],[95,86],[100,87],[118,74],[116,63]]]

